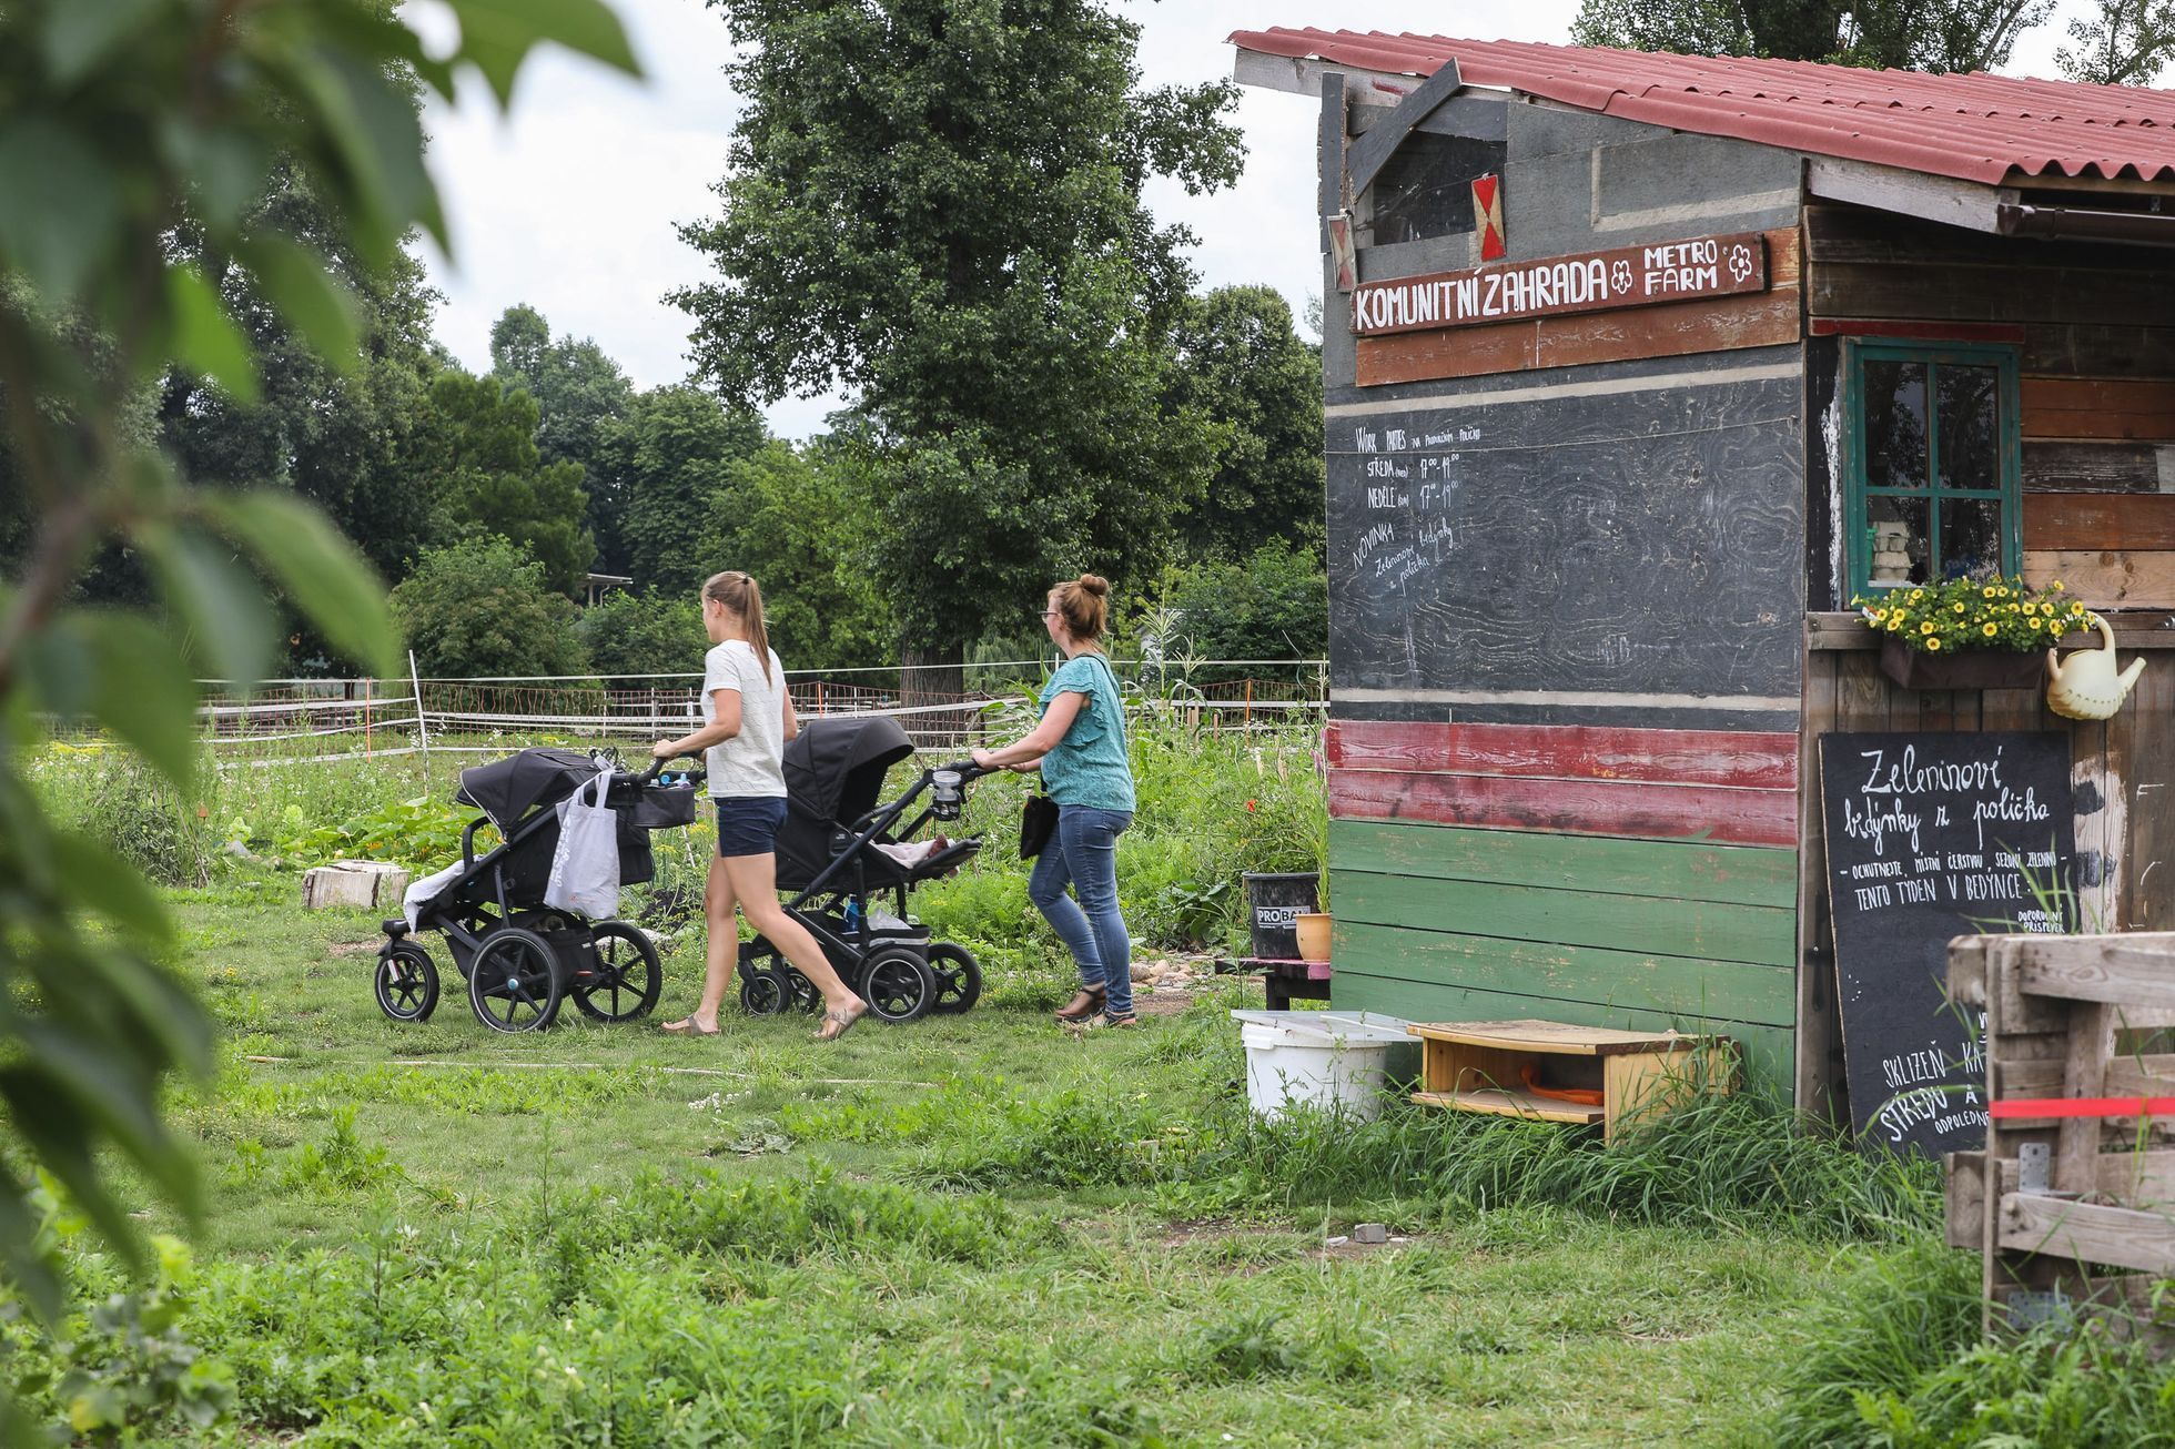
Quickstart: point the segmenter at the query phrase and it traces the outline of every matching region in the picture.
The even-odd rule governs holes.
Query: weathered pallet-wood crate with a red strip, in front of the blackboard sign
[[[2125,1099],[2121,1116],[1999,1116],[1949,1153],[1947,1234],[1981,1255],[1986,1332],[2136,1308],[2175,1275],[2175,933],[1966,936],[1949,994],[1986,1012],[1986,1101]],[[2101,1268],[2125,1273],[2103,1275]]]

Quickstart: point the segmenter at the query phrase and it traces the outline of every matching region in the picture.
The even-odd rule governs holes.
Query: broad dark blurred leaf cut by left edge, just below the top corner
[[[111,255],[122,205],[107,163],[41,115],[0,124],[0,261],[50,298],[72,298]]]

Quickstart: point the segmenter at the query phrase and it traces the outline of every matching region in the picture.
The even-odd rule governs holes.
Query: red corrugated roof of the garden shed
[[[1414,76],[1455,57],[1468,85],[1988,185],[2018,176],[2175,181],[2175,91],[1381,30],[1240,30],[1231,44]]]

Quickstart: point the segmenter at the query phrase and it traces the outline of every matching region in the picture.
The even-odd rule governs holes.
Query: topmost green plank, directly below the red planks
[[[1329,864],[1375,875],[1797,907],[1797,851],[1331,820]]]

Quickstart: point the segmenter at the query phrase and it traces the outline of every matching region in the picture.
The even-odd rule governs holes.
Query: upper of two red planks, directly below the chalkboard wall
[[[1329,764],[1353,770],[1797,788],[1797,733],[1331,720]]]

